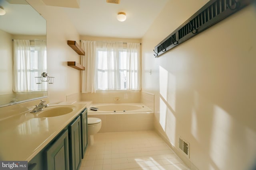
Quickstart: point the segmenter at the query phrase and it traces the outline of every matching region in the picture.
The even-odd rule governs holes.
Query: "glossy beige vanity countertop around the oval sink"
[[[33,115],[35,113],[29,113],[31,107],[23,108],[22,113],[2,119],[0,117],[0,160],[30,161],[78,116],[87,104],[68,104],[76,109],[56,117],[38,118]],[[66,106],[58,104],[60,105]],[[3,109],[0,112],[3,113]]]

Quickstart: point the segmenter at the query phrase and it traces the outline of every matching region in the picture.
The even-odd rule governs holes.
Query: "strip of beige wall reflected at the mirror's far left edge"
[[[0,30],[0,94],[12,94],[12,35]]]

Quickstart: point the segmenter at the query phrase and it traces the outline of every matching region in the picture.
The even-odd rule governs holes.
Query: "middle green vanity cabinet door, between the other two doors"
[[[80,116],[69,125],[69,139],[70,169],[79,170],[82,161]]]

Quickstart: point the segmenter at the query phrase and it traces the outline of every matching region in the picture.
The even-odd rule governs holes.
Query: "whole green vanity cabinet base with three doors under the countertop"
[[[28,170],[79,170],[87,147],[87,108],[28,162]]]

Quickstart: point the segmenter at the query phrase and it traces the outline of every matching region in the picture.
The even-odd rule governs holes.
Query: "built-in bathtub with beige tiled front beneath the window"
[[[98,111],[90,110],[90,107],[97,107]],[[102,120],[99,133],[154,129],[154,112],[142,103],[92,104],[87,108],[88,117]]]

